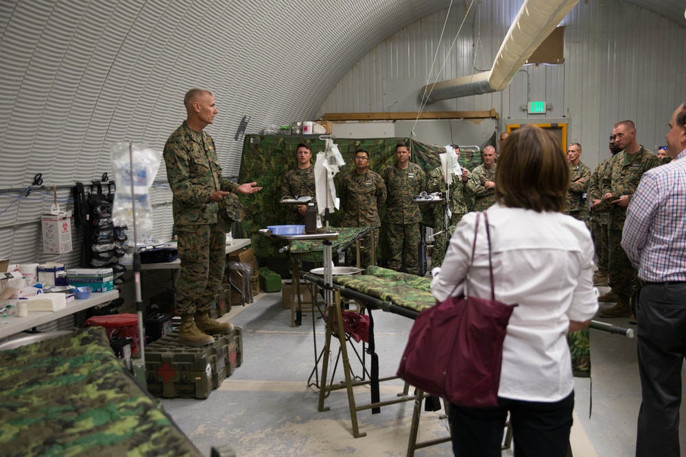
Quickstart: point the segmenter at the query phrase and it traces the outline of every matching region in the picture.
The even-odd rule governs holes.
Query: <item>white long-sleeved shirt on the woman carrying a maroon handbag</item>
[[[476,213],[458,224],[431,292],[439,301],[462,293],[471,259]],[[593,241],[585,223],[558,212],[495,204],[488,209],[495,299],[514,308],[503,345],[498,395],[556,402],[571,393],[569,321],[598,310],[593,288]],[[436,269],[438,270],[438,269]],[[488,240],[479,222],[468,295],[490,298]]]

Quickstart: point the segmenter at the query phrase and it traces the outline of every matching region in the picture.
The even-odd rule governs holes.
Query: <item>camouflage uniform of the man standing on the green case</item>
[[[214,141],[186,123],[174,131],[164,149],[167,179],[178,235],[181,273],[176,283],[176,312],[206,311],[215,301],[226,264],[226,234],[217,227],[217,190],[233,192],[238,184],[222,176]]]

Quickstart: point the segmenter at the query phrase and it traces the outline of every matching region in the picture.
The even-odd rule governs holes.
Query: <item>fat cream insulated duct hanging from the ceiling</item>
[[[420,100],[426,99],[426,103],[431,104],[503,90],[578,1],[525,0],[500,45],[490,71],[427,84],[419,90]]]

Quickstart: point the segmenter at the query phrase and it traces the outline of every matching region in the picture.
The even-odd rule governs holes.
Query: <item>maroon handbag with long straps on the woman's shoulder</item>
[[[407,383],[431,395],[474,408],[497,404],[503,341],[510,315],[517,306],[495,300],[490,230],[485,211],[477,214],[470,268],[481,214],[488,236],[490,300],[448,297],[420,312],[412,325],[397,373]],[[468,285],[469,279],[465,282],[465,295],[469,294]]]

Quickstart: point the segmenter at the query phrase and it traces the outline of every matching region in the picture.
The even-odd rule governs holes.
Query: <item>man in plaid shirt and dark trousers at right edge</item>
[[[626,212],[622,247],[643,282],[637,304],[643,402],[636,456],[681,455],[681,365],[686,356],[686,103],[670,120],[667,156],[643,173]]]

